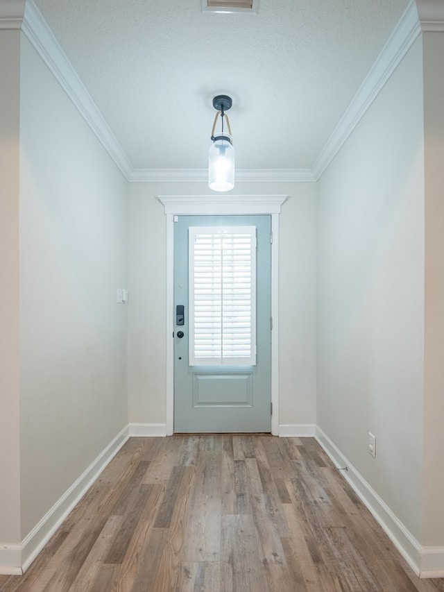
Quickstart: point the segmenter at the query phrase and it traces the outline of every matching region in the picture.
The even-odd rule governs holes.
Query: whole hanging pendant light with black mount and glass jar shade
[[[232,145],[230,121],[225,111],[231,108],[232,100],[226,94],[219,94],[213,99],[217,110],[211,133],[213,141],[208,154],[208,185],[214,191],[230,191],[234,187],[234,148]],[[221,131],[215,133],[217,121],[221,118]],[[223,130],[224,119],[227,130]]]

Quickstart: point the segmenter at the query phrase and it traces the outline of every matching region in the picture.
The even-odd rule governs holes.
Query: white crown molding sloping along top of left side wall
[[[128,157],[32,0],[26,1],[22,31],[128,180],[133,171]]]

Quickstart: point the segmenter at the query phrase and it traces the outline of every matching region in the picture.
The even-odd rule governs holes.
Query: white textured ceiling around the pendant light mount
[[[408,3],[35,0],[135,169],[205,168],[215,94],[238,169],[311,169]]]

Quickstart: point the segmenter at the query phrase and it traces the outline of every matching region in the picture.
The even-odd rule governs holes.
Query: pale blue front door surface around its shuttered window
[[[189,365],[191,226],[255,226],[255,365]],[[271,217],[180,216],[174,223],[174,431],[271,431]],[[178,306],[183,306],[183,314]],[[179,321],[179,324],[178,322]],[[182,324],[180,324],[182,323]],[[182,336],[182,337],[181,337]]]

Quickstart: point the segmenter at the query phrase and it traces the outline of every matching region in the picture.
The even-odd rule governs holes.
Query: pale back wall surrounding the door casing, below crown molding
[[[166,219],[158,195],[206,183],[132,183],[128,201],[130,423],[166,416]],[[236,194],[288,194],[280,221],[280,423],[316,423],[316,185],[237,183]]]

